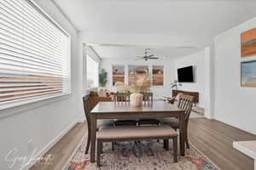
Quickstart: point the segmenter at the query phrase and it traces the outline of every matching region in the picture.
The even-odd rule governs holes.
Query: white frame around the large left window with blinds
[[[9,102],[7,104],[1,105],[0,106],[0,111],[4,111],[7,109],[11,109],[11,108],[15,108],[21,105],[28,105],[28,104],[33,104],[35,102],[39,102],[39,101],[43,101],[43,100],[47,100],[47,99],[54,99],[54,98],[59,98],[61,96],[67,96],[72,94],[72,83],[71,83],[71,36],[70,34],[63,29],[51,16],[49,16],[49,14],[47,14],[47,12],[44,10],[44,8],[41,8],[38,3],[36,3],[34,0],[25,0],[27,3],[29,3],[30,5],[32,5],[32,8],[35,8],[39,14],[42,14],[44,16],[44,18],[46,20],[49,20],[49,22],[51,24],[53,24],[57,29],[59,29],[60,31],[62,31],[64,34],[67,35],[67,39],[68,39],[68,59],[67,59],[67,74],[68,74],[68,81],[67,81],[67,92],[63,93],[63,94],[53,94],[51,96],[41,96],[39,98],[35,98],[35,99],[22,99],[22,100],[18,100],[18,101],[12,101]],[[1,114],[0,114],[1,115]]]

